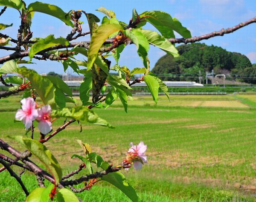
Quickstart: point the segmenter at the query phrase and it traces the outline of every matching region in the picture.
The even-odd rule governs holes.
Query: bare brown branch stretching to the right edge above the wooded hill
[[[194,42],[197,42],[200,40],[209,39],[209,38],[216,37],[216,36],[223,36],[224,34],[229,34],[229,33],[235,32],[236,30],[238,30],[244,26],[247,26],[251,23],[256,23],[256,17],[253,17],[252,19],[247,20],[243,23],[239,23],[238,25],[233,26],[231,28],[221,29],[218,32],[212,32],[207,35],[202,35],[199,37],[192,37],[192,38],[180,38],[180,39],[171,38],[171,39],[169,39],[169,41],[172,43],[185,43],[185,44],[186,43],[194,43]]]

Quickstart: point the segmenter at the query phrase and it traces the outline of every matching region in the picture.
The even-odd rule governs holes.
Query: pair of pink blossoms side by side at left
[[[49,104],[37,108],[37,104],[33,98],[24,98],[21,101],[21,109],[15,115],[17,120],[23,121],[26,130],[32,126],[33,121],[38,121],[38,129],[41,133],[47,134],[52,130],[52,122],[50,114],[52,112]],[[37,109],[36,109],[37,108]]]

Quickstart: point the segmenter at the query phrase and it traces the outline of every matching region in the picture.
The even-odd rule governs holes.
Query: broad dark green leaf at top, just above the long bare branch
[[[143,20],[151,23],[165,38],[175,38],[173,30],[184,38],[191,37],[189,30],[183,27],[176,18],[172,18],[166,12],[146,11],[140,14],[140,17],[145,17]]]

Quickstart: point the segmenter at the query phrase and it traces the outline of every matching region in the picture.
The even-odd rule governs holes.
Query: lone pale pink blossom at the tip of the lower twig
[[[131,148],[127,152],[125,159],[126,163],[133,164],[134,169],[138,170],[142,168],[142,165],[147,162],[147,156],[145,151],[147,150],[147,145],[141,141],[138,145],[130,143]],[[128,168],[126,168],[128,170]]]

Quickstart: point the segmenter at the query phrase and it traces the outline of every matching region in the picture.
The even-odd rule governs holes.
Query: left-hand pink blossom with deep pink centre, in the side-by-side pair
[[[22,109],[19,109],[15,118],[23,121],[26,130],[32,126],[32,121],[38,117],[38,110],[35,109],[36,103],[33,98],[24,98],[21,101]]]

